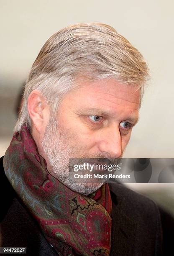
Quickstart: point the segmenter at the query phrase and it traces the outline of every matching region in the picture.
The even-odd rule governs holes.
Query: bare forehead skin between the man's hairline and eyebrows
[[[138,109],[140,103],[140,89],[137,85],[121,84],[115,79],[102,79],[96,82],[78,81],[78,85],[67,94],[67,100],[72,105],[89,107],[105,107],[108,105],[124,106],[124,108]]]

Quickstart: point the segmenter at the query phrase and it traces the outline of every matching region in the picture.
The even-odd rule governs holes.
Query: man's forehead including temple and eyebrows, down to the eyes
[[[101,115],[119,122],[132,120],[135,124],[139,102],[140,90],[136,86],[120,84],[115,79],[80,81],[63,97],[58,115],[65,122],[78,115]]]

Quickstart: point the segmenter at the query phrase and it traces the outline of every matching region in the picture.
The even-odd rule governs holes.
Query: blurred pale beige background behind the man
[[[0,0],[0,156],[13,135],[21,87],[45,41],[73,23],[113,26],[148,62],[148,82],[127,158],[174,157],[173,0]],[[174,184],[127,184],[174,215]]]

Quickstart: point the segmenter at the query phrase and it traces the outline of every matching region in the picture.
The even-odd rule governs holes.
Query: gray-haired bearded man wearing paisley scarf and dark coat
[[[121,184],[74,183],[69,158],[122,157],[148,70],[112,27],[77,24],[44,44],[1,172],[3,247],[28,255],[160,255],[154,202]]]

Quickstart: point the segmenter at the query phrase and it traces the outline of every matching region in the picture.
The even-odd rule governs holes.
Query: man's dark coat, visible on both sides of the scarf
[[[27,255],[56,256],[16,195],[0,159],[1,247],[27,247]],[[161,216],[156,204],[122,184],[110,184],[113,202],[111,256],[162,255]]]

